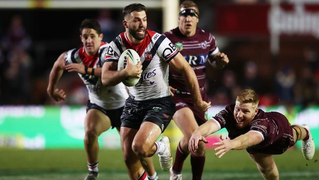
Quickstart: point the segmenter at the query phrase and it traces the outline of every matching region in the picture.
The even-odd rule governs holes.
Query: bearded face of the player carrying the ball
[[[143,40],[146,34],[147,17],[145,11],[133,11],[127,15],[123,21],[125,28],[129,30],[130,35],[136,40]]]

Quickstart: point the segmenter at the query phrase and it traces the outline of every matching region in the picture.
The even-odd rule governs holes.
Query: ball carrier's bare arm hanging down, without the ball
[[[178,53],[178,55],[169,61],[169,65],[183,75],[186,86],[189,87],[189,91],[192,94],[195,106],[201,111],[206,111],[208,108],[210,108],[211,102],[207,103],[203,101],[195,72],[181,55],[181,53]]]

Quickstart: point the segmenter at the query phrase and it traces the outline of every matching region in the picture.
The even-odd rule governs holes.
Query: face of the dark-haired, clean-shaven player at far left
[[[98,34],[94,29],[85,28],[80,35],[85,53],[89,56],[98,52],[101,45],[103,34]]]

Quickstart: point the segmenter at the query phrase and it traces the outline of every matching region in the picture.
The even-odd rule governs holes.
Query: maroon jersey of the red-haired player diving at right
[[[282,154],[294,145],[292,127],[287,118],[278,112],[266,113],[259,109],[255,118],[243,129],[236,128],[234,118],[235,104],[228,105],[213,117],[221,128],[226,128],[228,137],[236,137],[254,131],[263,136],[263,141],[258,145],[247,148],[249,153]]]

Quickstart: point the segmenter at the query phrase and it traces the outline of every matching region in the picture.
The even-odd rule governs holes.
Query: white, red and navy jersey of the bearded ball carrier
[[[133,44],[127,38],[126,32],[122,32],[109,44],[105,61],[118,62],[119,56],[126,49],[135,50],[143,65],[139,82],[133,87],[128,87],[134,100],[169,96],[168,62],[179,53],[171,41],[157,32],[147,30],[144,40]]]

